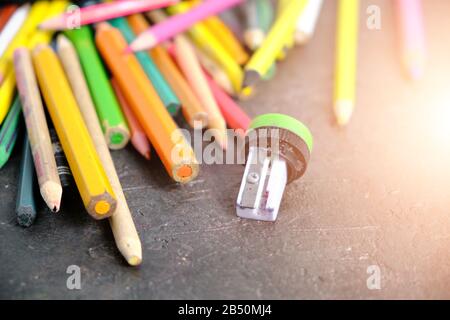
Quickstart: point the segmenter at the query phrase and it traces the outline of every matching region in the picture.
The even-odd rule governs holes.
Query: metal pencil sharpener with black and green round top
[[[313,137],[300,121],[283,114],[264,114],[246,135],[244,176],[236,202],[241,218],[275,221],[287,184],[306,171]]]

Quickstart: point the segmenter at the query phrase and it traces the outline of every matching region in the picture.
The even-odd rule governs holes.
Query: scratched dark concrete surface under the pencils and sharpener
[[[127,267],[107,222],[75,200],[36,224],[15,223],[19,156],[0,172],[0,298],[373,299],[450,298],[450,2],[425,3],[430,64],[405,81],[390,0],[382,29],[361,19],[358,108],[339,130],[330,112],[336,2],[326,1],[317,35],[279,65],[243,105],[252,116],[283,112],[315,137],[306,176],[287,188],[279,220],[240,220],[241,166],[203,166],[173,184],[156,157],[114,153],[142,238],[144,261]],[[20,149],[20,148],[19,148]],[[81,267],[82,289],[66,289]],[[369,290],[367,268],[381,271]]]

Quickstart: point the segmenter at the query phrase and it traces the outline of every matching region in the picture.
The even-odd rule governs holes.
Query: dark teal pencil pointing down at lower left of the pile
[[[22,227],[29,227],[36,219],[36,203],[34,201],[34,185],[36,176],[33,155],[31,154],[28,135],[24,135],[22,160],[20,163],[19,188],[17,192],[17,222]]]

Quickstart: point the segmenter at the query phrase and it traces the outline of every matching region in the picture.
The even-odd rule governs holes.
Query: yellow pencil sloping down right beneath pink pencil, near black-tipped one
[[[168,8],[168,11],[170,14],[182,14],[189,9],[190,6],[182,2]],[[151,12],[148,13],[148,15],[151,14]],[[227,73],[231,83],[233,84],[235,95],[246,95],[246,91],[241,92],[242,81],[244,78],[242,69],[239,64],[236,63],[236,61],[224,49],[220,40],[217,40],[214,35],[208,30],[208,28],[201,23],[195,24],[189,29],[188,32],[195,45],[205,53],[207,53],[212,59],[214,59]]]

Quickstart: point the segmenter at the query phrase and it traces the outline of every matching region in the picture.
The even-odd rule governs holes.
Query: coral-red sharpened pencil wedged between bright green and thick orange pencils
[[[143,155],[144,158],[150,160],[150,142],[145,135],[144,129],[142,129],[141,124],[138,119],[136,119],[136,116],[128,105],[128,102],[115,79],[111,79],[111,86],[116,93],[117,100],[119,101],[122,111],[125,114],[125,118],[127,118],[128,125],[130,126],[131,143],[133,144],[133,147]]]

